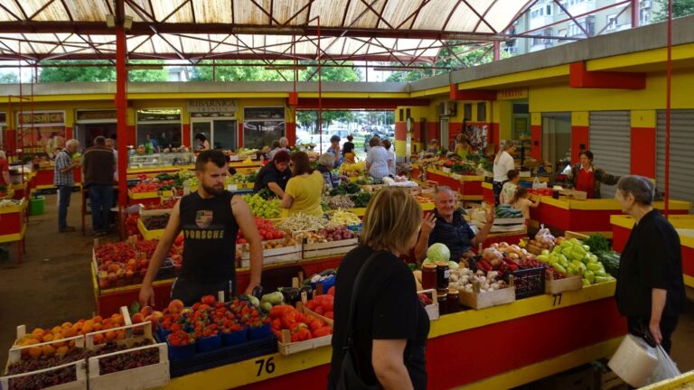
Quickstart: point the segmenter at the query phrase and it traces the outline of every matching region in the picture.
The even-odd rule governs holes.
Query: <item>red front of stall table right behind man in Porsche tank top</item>
[[[312,274],[318,274],[328,268],[337,268],[342,261],[343,255],[321,257],[311,260],[301,260],[286,263],[277,263],[264,265],[263,271],[299,265],[304,269],[306,277]],[[94,290],[94,301],[97,305],[97,312],[102,316],[109,316],[118,312],[121,306],[129,306],[132,302],[137,302],[140,293],[140,284],[127,285],[125,287],[117,287],[107,290],[101,290],[98,287],[98,278],[93,266],[91,269],[92,286]],[[249,268],[236,269],[237,292],[243,293],[248,287],[250,281]],[[163,281],[155,281],[153,283],[155,289],[155,309],[164,309],[171,301],[171,289],[174,284],[174,279]]]

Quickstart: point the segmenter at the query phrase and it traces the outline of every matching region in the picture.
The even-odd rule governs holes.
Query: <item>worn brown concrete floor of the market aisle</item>
[[[96,309],[89,262],[93,237],[80,232],[80,194],[73,192],[68,224],[74,233],[58,233],[56,196],[46,195],[45,212],[29,218],[27,253],[18,265],[16,246],[9,260],[0,261],[0,364],[5,367],[6,350],[16,335],[16,326],[53,327],[64,321],[89,318]],[[104,237],[117,240],[116,235]],[[680,317],[673,337],[672,356],[682,372],[694,369],[694,305]]]

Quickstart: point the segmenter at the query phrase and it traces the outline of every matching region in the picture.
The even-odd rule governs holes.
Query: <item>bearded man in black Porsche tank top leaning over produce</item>
[[[200,153],[195,163],[198,190],[176,202],[164,235],[156,246],[140,290],[140,303],[155,304],[152,283],[164,257],[183,231],[183,268],[174,283],[172,299],[186,306],[203,295],[225,292],[236,295],[236,235],[239,228],[250,246],[250,283],[246,294],[260,284],[263,246],[249,205],[224,190],[228,176],[227,160],[220,151]]]

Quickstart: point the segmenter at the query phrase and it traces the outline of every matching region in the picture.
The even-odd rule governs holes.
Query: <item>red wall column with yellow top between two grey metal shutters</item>
[[[632,111],[632,174],[655,179],[655,111]]]

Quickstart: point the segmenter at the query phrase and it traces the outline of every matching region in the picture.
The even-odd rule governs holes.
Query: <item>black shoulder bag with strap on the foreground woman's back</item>
[[[354,350],[354,308],[357,305],[357,294],[361,284],[361,278],[366,274],[366,269],[373,263],[377,255],[382,253],[374,252],[366,259],[361,270],[357,274],[352,289],[352,299],[350,300],[350,314],[347,317],[347,342],[344,346],[344,357],[342,357],[342,368],[340,369],[340,377],[337,380],[337,390],[377,390],[381,389],[381,385],[366,385],[361,379],[359,372],[359,358]]]

